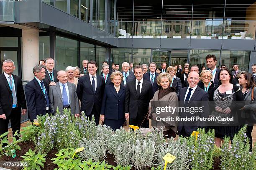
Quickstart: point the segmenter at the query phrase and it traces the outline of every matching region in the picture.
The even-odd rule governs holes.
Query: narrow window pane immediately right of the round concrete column
[[[39,37],[39,59],[50,57],[50,37]]]

